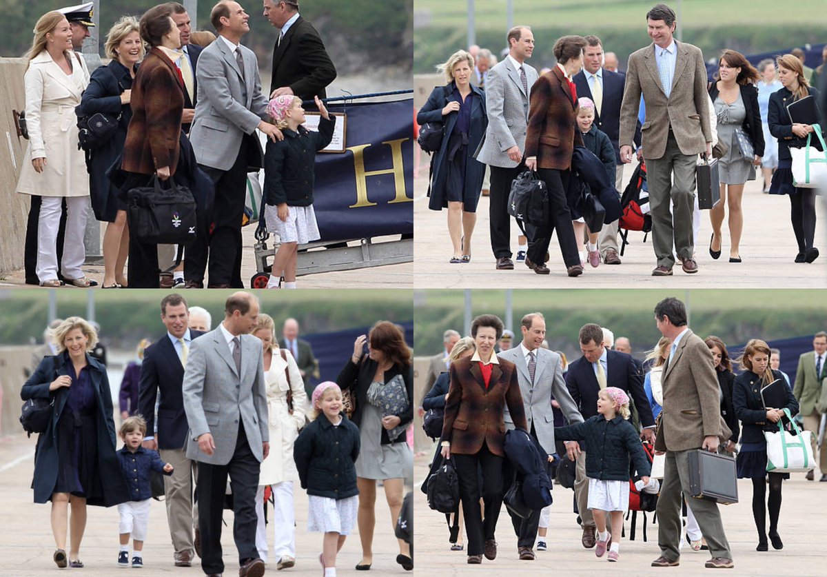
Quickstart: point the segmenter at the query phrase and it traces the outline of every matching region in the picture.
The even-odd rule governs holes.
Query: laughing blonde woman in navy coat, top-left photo
[[[107,171],[120,158],[127,140],[127,127],[132,117],[129,106],[132,79],[138,61],[144,56],[135,17],[122,17],[112,26],[107,35],[106,53],[112,61],[92,73],[80,101],[80,112],[86,116],[103,112],[108,117],[117,118],[117,131],[108,142],[91,151],[87,168],[95,218],[109,223],[103,234],[101,288],[120,288],[127,285],[127,277],[123,274],[129,251],[127,205],[118,198],[117,188],[107,178]]]

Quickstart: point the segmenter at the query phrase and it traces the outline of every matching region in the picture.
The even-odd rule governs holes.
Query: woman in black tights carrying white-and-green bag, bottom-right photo
[[[741,451],[736,464],[739,479],[753,479],[753,518],[758,530],[756,551],[767,551],[767,505],[770,510],[770,530],[768,536],[773,549],[781,549],[781,536],[778,535],[778,515],[781,513],[781,485],[783,479],[789,479],[789,473],[767,473],[767,441],[764,432],[778,432],[777,423],[784,416],[786,408],[795,416],[798,401],[786,384],[780,371],[769,368],[770,347],[764,341],[753,339],[743,349],[741,366],[743,373],[735,377],[733,404],[735,414],[743,423],[741,428]],[[784,407],[764,407],[761,389],[772,381],[780,380],[786,390]],[[766,480],[765,480],[766,479]],[[767,480],[770,494],[767,494]]]

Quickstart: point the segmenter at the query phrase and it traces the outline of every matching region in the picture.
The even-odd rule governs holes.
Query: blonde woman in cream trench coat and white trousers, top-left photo
[[[60,286],[57,235],[61,203],[66,198],[68,212],[61,269],[68,284],[85,288],[89,281],[81,266],[86,259],[84,231],[89,177],[84,151],[78,150],[78,117],[74,107],[80,103],[89,74],[82,59],[72,50],[71,29],[69,36],[65,35],[64,28],[69,22],[55,15],[60,13],[49,12],[37,22],[32,46],[36,54],[31,56],[26,69],[29,144],[23,156],[17,192],[42,197],[36,272],[41,286],[47,287]],[[66,66],[61,61],[64,55],[71,74],[61,68]]]

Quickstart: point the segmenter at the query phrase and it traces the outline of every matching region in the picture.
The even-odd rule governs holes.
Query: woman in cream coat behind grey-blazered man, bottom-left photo
[[[264,347],[265,383],[267,387],[267,412],[270,418],[270,455],[261,463],[259,490],[256,495],[256,548],[261,559],[267,562],[267,532],[264,520],[264,490],[270,485],[273,491],[273,517],[275,539],[273,559],[279,569],[292,567],[296,557],[296,529],[293,503],[293,482],[299,473],[293,460],[293,444],[304,427],[304,408],[307,393],[299,366],[289,350],[284,350],[287,360],[281,358],[275,341],[275,323],[269,315],[260,314],[252,334],[261,339]],[[268,359],[268,356],[270,359]],[[268,368],[269,366],[269,368]],[[289,382],[285,375],[289,374]],[[287,407],[287,392],[293,392],[293,414]]]

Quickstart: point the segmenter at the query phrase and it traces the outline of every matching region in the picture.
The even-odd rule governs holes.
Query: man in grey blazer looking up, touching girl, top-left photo
[[[198,57],[198,103],[189,140],[195,159],[215,184],[213,222],[207,238],[187,248],[184,277],[203,284],[209,250],[209,286],[243,288],[241,282],[241,217],[249,169],[263,165],[256,128],[271,139],[281,131],[267,118],[256,54],[241,37],[250,31],[250,16],[238,2],[218,2],[210,14],[218,38]]]

